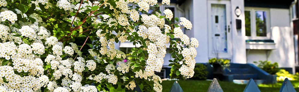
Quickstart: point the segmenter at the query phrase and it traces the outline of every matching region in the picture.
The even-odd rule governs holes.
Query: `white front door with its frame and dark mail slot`
[[[231,58],[230,7],[230,1],[208,0],[210,58]]]

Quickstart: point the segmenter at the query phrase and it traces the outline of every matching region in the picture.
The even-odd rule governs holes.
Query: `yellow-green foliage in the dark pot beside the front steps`
[[[209,59],[209,64],[213,65],[215,63],[219,63],[223,69],[228,68],[230,66],[229,59],[217,59],[217,58],[211,58]]]

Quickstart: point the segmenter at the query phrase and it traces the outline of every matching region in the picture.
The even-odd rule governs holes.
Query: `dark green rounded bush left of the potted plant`
[[[194,80],[205,80],[207,79],[208,71],[207,67],[201,63],[196,63],[194,68],[194,75],[191,79]]]

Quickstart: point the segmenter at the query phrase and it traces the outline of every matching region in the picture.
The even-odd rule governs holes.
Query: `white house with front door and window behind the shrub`
[[[297,1],[297,0],[296,0]],[[197,63],[210,58],[231,63],[269,60],[295,72],[291,8],[294,0],[171,0],[174,17],[186,17],[193,25],[184,30],[199,41]],[[246,21],[246,22],[245,22]],[[120,48],[131,48],[125,43]],[[164,58],[168,67],[170,54]]]

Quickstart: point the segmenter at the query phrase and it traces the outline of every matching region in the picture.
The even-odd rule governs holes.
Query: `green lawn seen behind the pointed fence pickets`
[[[169,92],[175,81],[163,81],[163,92]],[[212,81],[207,80],[179,80],[178,83],[184,92],[207,92]],[[243,92],[246,85],[235,84],[233,82],[218,81],[224,92]],[[261,92],[278,92],[283,81],[276,84],[260,84],[258,87]],[[299,92],[299,81],[291,81],[294,88]]]

